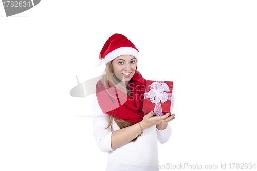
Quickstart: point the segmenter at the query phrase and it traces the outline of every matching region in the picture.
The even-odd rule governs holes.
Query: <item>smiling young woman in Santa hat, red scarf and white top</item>
[[[171,135],[168,122],[175,114],[143,114],[146,80],[138,71],[138,54],[130,40],[114,34],[96,62],[104,59],[106,68],[93,96],[93,135],[108,152],[106,170],[158,170],[157,140],[163,144]]]

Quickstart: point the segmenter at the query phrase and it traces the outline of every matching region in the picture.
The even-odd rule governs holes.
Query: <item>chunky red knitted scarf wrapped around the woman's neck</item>
[[[108,89],[108,92],[111,94],[110,96],[103,86],[102,81],[99,80],[96,85],[96,95],[99,106],[103,113],[109,113],[115,115],[119,119],[134,123],[140,122],[144,116],[142,108],[145,85],[146,80],[139,71],[136,71],[129,84],[132,91],[132,97],[109,83],[109,86],[111,87]]]

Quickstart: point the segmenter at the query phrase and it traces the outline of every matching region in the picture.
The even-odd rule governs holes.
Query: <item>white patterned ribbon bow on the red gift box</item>
[[[166,83],[163,83],[164,81],[156,81],[153,82],[149,87],[149,92],[144,92],[144,99],[150,98],[152,103],[155,103],[154,107],[154,115],[162,116],[162,109],[161,109],[161,103],[166,102],[167,100],[171,101],[171,105],[174,105],[174,97],[172,96],[172,93],[166,93],[169,92],[169,86]],[[166,92],[164,92],[166,91]],[[160,103],[161,102],[161,103]]]

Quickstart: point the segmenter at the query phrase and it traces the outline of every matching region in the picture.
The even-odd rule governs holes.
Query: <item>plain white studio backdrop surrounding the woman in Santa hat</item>
[[[139,49],[145,79],[174,81],[176,119],[170,140],[158,144],[160,165],[256,162],[256,8],[41,1],[6,17],[0,4],[0,170],[105,170],[91,96],[69,92],[76,75],[83,82],[102,74],[105,65],[94,61],[114,33]]]

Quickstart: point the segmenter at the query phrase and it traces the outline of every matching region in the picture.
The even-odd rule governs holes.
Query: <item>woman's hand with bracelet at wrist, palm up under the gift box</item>
[[[143,120],[140,122],[140,125],[142,126],[143,131],[147,128],[150,128],[151,126],[157,125],[161,122],[165,122],[166,119],[170,119],[168,117],[171,115],[171,113],[166,113],[163,116],[153,116],[153,115],[154,115],[154,112],[151,111],[143,117]]]

